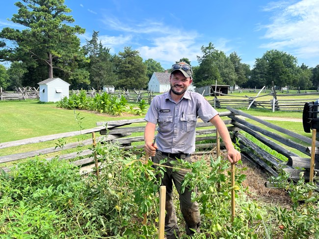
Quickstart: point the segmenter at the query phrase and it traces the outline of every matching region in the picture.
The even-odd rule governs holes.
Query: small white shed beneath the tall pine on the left
[[[60,78],[48,78],[38,83],[40,101],[56,102],[64,96],[69,98],[70,84]]]

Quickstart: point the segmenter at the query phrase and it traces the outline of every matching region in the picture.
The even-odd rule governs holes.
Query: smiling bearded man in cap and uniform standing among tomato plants
[[[187,91],[192,82],[191,67],[185,62],[172,66],[169,77],[171,89],[155,96],[145,116],[144,140],[145,152],[153,156],[154,163],[167,159],[165,165],[171,166],[176,158],[191,162],[191,153],[195,151],[195,127],[199,116],[204,122],[210,121],[218,130],[225,147],[227,158],[235,164],[240,153],[234,148],[229,132],[217,111],[200,94]],[[153,143],[156,125],[159,125],[156,143]],[[153,145],[154,144],[154,145]],[[191,202],[191,192],[181,193],[181,184],[186,172],[167,168],[161,179],[166,186],[165,234],[167,239],[175,239],[179,234],[177,217],[172,201],[173,182],[180,195],[180,207],[186,223],[186,234],[199,232],[200,215],[198,203]],[[197,193],[197,189],[195,189]]]

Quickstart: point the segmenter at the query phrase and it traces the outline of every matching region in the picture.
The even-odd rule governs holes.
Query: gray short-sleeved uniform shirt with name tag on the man
[[[216,115],[204,96],[186,91],[176,103],[169,91],[153,98],[145,120],[159,125],[156,143],[160,151],[190,154],[195,151],[197,116],[208,122]]]

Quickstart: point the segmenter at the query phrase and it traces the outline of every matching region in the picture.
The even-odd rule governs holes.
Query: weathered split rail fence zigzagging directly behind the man
[[[310,137],[293,133],[289,129],[258,119],[232,107],[227,107],[227,109],[229,111],[221,113],[220,116],[228,128],[233,142],[238,143],[243,160],[258,165],[269,175],[278,176],[280,170],[285,170],[290,173],[291,180],[296,181],[299,179],[299,173],[303,172],[305,180],[309,180],[312,145]],[[301,124],[300,127],[302,127]],[[97,127],[92,129],[0,143],[0,167],[7,171],[10,170],[9,167],[12,163],[19,160],[35,156],[50,160],[55,155],[58,155],[60,160],[68,160],[71,164],[82,167],[81,171],[92,171],[94,167],[98,167],[97,162],[95,162],[93,151],[85,149],[85,146],[92,145],[95,140],[95,134],[97,134],[97,142],[117,143],[124,150],[133,150],[136,154],[142,154],[145,125],[144,119],[97,122]],[[80,135],[87,135],[87,139],[80,142],[66,143],[61,147],[57,146],[57,142],[61,139]],[[219,146],[219,140],[216,139],[217,135],[215,127],[210,122],[205,123],[198,120],[196,124],[196,152],[194,154],[216,154],[219,147],[223,150],[224,145],[220,143]],[[251,137],[255,138],[255,140],[250,140]],[[28,144],[49,141],[52,142],[52,147],[10,153],[16,152],[17,147],[27,147]],[[264,145],[260,146],[260,143],[254,143],[253,141]],[[56,145],[54,146],[54,144]],[[264,149],[265,145],[286,157],[287,160],[279,159],[268,153]],[[39,145],[39,147],[41,146]],[[316,141],[316,152],[319,152],[318,147],[319,142]],[[66,151],[72,148],[76,152],[68,153]],[[298,153],[295,153],[296,151]],[[98,165],[101,165],[101,162],[98,162]],[[315,175],[318,170],[319,155],[315,154]],[[266,187],[272,186],[266,183]]]

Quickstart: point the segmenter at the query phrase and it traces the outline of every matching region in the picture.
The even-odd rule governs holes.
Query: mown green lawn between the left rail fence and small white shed
[[[96,127],[96,122],[142,116],[112,117],[96,112],[65,110],[37,100],[0,102],[0,143]],[[80,113],[80,114],[79,114]],[[77,122],[76,116],[83,118]]]

